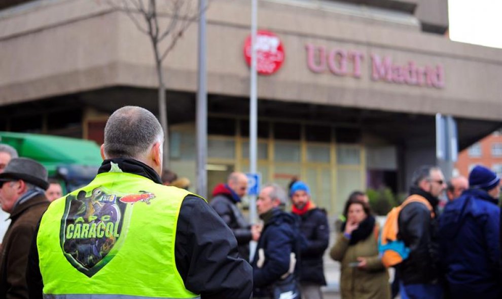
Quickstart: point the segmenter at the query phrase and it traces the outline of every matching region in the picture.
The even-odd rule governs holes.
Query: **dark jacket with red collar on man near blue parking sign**
[[[249,260],[249,241],[252,239],[251,227],[242,216],[239,208],[233,199],[233,194],[229,188],[220,184],[214,188],[211,207],[228,225],[237,239],[240,257]]]

